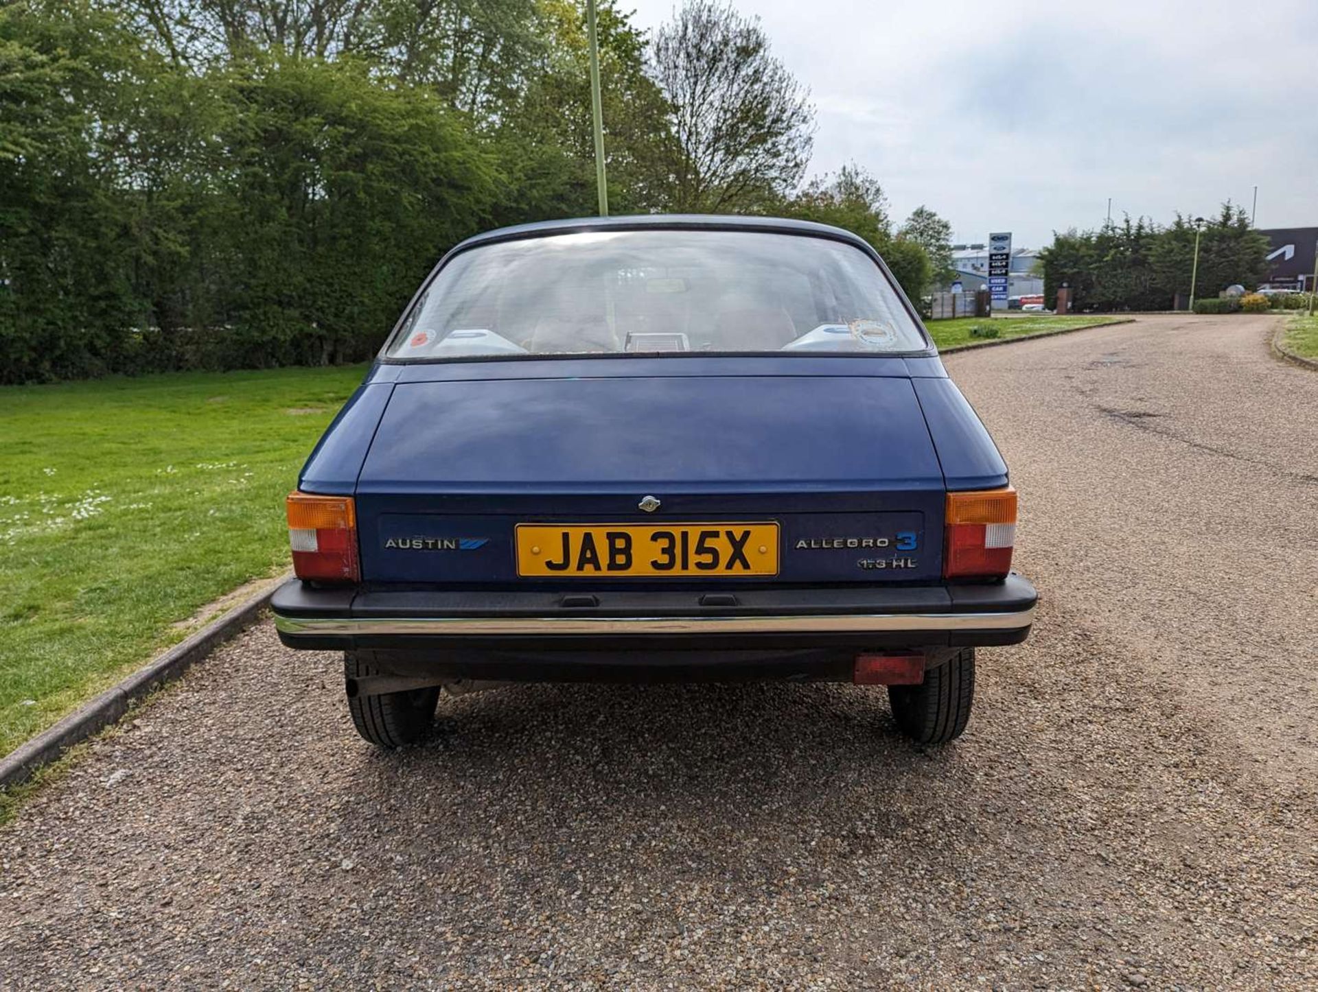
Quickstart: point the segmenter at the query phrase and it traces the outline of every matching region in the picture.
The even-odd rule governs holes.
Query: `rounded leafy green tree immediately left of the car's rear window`
[[[370,86],[351,59],[256,61],[212,86],[215,240],[192,245],[190,285],[214,287],[219,364],[369,357],[435,258],[482,227],[489,154],[430,88]]]

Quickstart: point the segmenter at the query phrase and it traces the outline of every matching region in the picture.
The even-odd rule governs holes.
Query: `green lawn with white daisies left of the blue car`
[[[286,565],[283,497],[364,373],[0,389],[0,754]]]

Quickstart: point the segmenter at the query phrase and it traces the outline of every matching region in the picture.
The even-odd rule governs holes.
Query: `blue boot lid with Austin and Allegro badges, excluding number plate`
[[[368,582],[517,581],[518,523],[759,520],[780,568],[741,581],[929,581],[942,511],[911,381],[878,375],[401,382],[357,482]]]

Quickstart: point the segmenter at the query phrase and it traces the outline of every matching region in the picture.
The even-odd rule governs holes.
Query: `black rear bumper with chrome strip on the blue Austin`
[[[1017,574],[956,586],[585,594],[358,592],[290,580],[272,607],[279,640],[294,648],[617,656],[1016,644],[1036,599]]]

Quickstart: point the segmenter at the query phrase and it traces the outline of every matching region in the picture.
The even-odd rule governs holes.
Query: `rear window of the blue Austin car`
[[[883,270],[824,237],[596,231],[472,248],[445,265],[390,358],[928,348]]]

